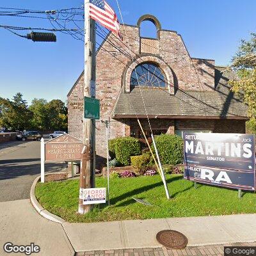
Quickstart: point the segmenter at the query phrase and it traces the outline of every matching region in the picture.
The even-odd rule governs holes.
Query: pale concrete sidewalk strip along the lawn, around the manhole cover
[[[188,237],[188,246],[256,241],[256,214],[63,223],[76,252],[161,247],[160,230],[173,229]]]

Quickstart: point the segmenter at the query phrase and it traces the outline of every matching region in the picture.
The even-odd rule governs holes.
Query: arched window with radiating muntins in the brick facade
[[[131,74],[131,86],[147,86],[165,88],[165,76],[154,63],[142,63]]]

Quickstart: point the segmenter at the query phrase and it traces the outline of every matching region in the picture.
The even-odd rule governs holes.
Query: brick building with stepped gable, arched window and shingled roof
[[[144,20],[154,23],[157,38],[140,36]],[[137,118],[148,133],[147,114],[154,134],[245,132],[246,106],[230,92],[231,74],[225,67],[216,67],[214,60],[191,58],[182,37],[162,29],[152,15],[143,15],[137,26],[125,25],[125,31],[122,26],[121,33],[131,51],[109,33],[96,57],[96,98],[100,119],[110,121],[110,138],[140,137]],[[68,132],[77,138],[83,136],[83,83],[82,73],[68,93]],[[106,157],[106,127],[100,121],[96,152]]]

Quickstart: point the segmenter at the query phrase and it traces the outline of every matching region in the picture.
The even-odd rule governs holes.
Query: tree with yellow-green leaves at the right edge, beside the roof
[[[232,58],[231,68],[237,73],[238,79],[228,83],[232,86],[232,91],[241,95],[248,105],[250,121],[247,122],[247,127],[256,133],[256,33],[252,33],[248,41],[241,40],[241,45]]]

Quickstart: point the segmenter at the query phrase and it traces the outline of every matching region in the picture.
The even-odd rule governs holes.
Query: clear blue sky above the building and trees
[[[107,1],[121,20],[116,0]],[[162,29],[182,36],[191,57],[214,59],[216,65],[228,65],[240,40],[248,40],[250,33],[256,32],[255,0],[118,1],[125,24],[136,25],[146,13],[155,15]],[[83,0],[1,0],[0,7],[58,10],[82,4]],[[0,25],[53,28],[47,19],[8,16],[0,16]],[[19,33],[26,35],[27,31]],[[154,25],[143,22],[141,33],[154,36]],[[20,92],[29,104],[34,98],[67,100],[68,91],[83,71],[84,46],[70,35],[58,32],[56,36],[56,43],[32,42],[0,28],[0,97],[12,99]]]

